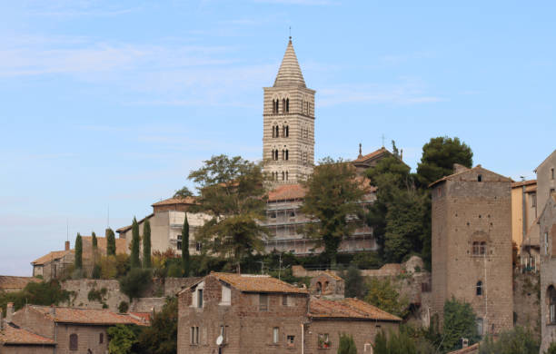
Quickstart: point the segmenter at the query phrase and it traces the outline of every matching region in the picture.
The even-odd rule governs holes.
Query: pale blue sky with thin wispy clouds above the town
[[[458,136],[519,179],[555,146],[553,2],[4,1],[0,274],[143,217],[213,154],[262,155],[292,27],[316,157]]]

